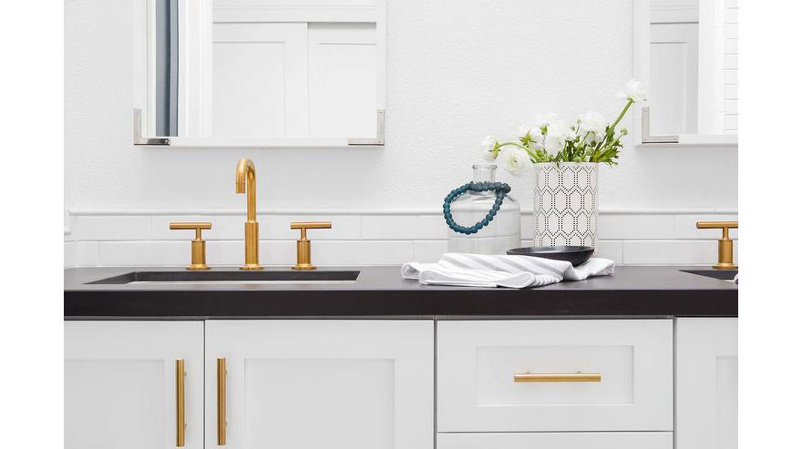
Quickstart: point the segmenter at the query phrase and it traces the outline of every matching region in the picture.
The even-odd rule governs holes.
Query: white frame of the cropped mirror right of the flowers
[[[704,3],[704,2],[700,2]],[[711,2],[712,3],[712,2]],[[650,66],[651,55],[649,50],[649,43],[651,40],[651,22],[650,22],[650,3],[648,1],[636,0],[632,2],[632,46],[633,46],[633,72],[635,79],[641,81],[646,91],[649,92],[650,83]],[[700,8],[700,14],[703,14]],[[703,37],[704,36],[700,36]],[[651,134],[650,115],[649,115],[649,102],[648,100],[643,103],[637,104],[640,110],[636,110],[635,127],[632,133],[635,138],[635,146],[721,146],[721,147],[735,147],[738,146],[737,134],[675,134],[655,136]]]

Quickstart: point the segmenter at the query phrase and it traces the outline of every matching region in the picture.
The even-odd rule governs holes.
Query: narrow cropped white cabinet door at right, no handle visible
[[[676,447],[738,446],[738,321],[676,323]]]

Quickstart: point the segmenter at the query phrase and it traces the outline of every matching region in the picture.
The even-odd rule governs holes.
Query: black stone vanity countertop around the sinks
[[[182,269],[75,268],[64,270],[64,317],[200,320],[737,316],[735,283],[681,269],[616,267],[612,276],[512,290],[421,285],[402,279],[397,266],[348,267],[342,270],[361,270],[353,283],[310,285],[87,284],[130,271]]]

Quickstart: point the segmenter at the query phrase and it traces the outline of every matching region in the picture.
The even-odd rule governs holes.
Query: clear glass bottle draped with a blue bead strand
[[[496,166],[473,166],[474,182],[496,182]],[[451,217],[461,226],[473,226],[488,215],[496,201],[496,192],[469,191],[451,203]],[[469,254],[507,254],[520,247],[520,205],[507,195],[501,209],[490,224],[476,234],[461,234],[448,230],[448,252]]]

